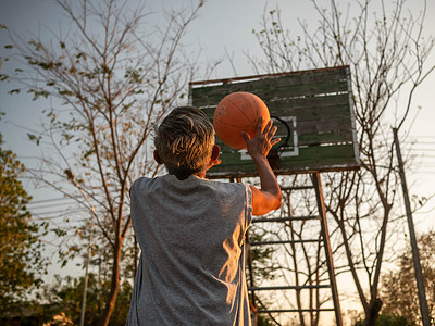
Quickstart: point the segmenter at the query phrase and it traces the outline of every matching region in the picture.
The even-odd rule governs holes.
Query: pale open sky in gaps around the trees
[[[330,3],[324,0],[324,5]],[[343,1],[340,1],[341,3]],[[377,0],[373,1],[374,3]],[[421,3],[421,1],[414,1]],[[413,3],[414,3],[413,2]],[[145,2],[156,11],[160,7],[166,9],[181,3],[190,3],[184,0],[151,0]],[[185,43],[198,47],[202,50],[203,60],[222,58],[225,52],[234,55],[234,63],[239,76],[252,75],[244,52],[249,51],[260,57],[260,50],[252,29],[260,28],[260,22],[264,10],[282,10],[283,21],[290,30],[297,29],[297,20],[308,23],[316,20],[310,1],[296,0],[209,0],[206,2],[196,21],[189,26]],[[417,5],[417,4],[415,4]],[[425,30],[435,34],[435,1],[428,1]],[[32,34],[44,34],[49,37],[46,27],[52,30],[59,29],[63,20],[60,10],[51,0],[0,0],[0,24],[7,25],[20,37],[27,39]],[[0,55],[5,53],[3,47],[9,43],[7,34],[0,29]],[[430,59],[435,64],[435,53]],[[223,64],[213,75],[213,78],[233,77],[234,71],[228,63]],[[402,153],[414,155],[415,164],[407,171],[407,180],[410,196],[431,197],[435,193],[435,73],[417,90],[412,108],[418,115],[411,115],[407,128],[401,135]],[[0,131],[3,134],[3,148],[15,151],[18,158],[26,163],[28,156],[37,154],[29,147],[26,130],[37,129],[41,121],[44,101],[33,102],[28,96],[9,96],[10,86],[0,84],[0,111],[7,115],[0,122]],[[399,102],[398,105],[403,105]],[[421,109],[418,109],[421,108]],[[412,124],[411,124],[412,122]],[[405,136],[407,136],[405,138]],[[33,209],[37,213],[59,210],[63,201],[57,199],[60,196],[52,192],[35,189],[32,183],[25,183],[35,202]],[[48,202],[45,202],[48,200]],[[30,205],[32,208],[32,205]],[[414,213],[414,223],[418,231],[435,229],[435,198],[422,211]],[[403,229],[403,233],[407,230]]]

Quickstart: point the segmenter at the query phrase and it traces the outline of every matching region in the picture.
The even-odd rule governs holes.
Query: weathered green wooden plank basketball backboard
[[[360,165],[348,66],[190,83],[189,103],[213,120],[228,93],[248,91],[268,105],[276,137],[270,154],[275,174],[355,170]],[[221,147],[220,165],[209,178],[257,175],[244,150]]]

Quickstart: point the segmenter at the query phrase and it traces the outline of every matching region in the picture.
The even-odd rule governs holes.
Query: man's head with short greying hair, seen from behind
[[[207,168],[214,146],[214,128],[207,115],[192,106],[174,109],[160,124],[154,156],[179,179]]]

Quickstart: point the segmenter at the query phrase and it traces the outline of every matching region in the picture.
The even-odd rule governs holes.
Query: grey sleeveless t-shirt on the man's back
[[[165,175],[137,179],[130,193],[141,253],[126,325],[251,325],[249,186]]]

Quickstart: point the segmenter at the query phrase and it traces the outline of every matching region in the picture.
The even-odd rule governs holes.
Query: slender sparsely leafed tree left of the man
[[[147,141],[153,124],[183,100],[195,73],[182,38],[202,1],[169,12],[165,21],[128,1],[55,2],[71,22],[67,33],[27,43],[12,37],[14,58],[25,61],[12,77],[34,99],[60,100],[46,111],[42,131],[29,135],[39,145],[51,142],[51,151],[45,143],[40,166],[29,171],[82,208],[74,211],[80,226],[70,230],[79,237],[61,252],[64,262],[89,239],[95,250],[109,251],[110,291],[99,321],[108,325],[125,264],[133,263],[123,256],[135,250],[128,189],[138,176],[157,173]]]

